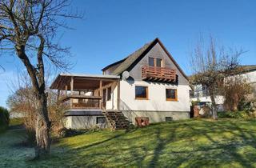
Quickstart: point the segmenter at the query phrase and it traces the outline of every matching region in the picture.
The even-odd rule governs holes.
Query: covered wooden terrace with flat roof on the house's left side
[[[117,86],[119,98],[119,80],[117,75],[58,74],[50,89],[58,90],[58,101],[70,110],[105,110],[106,95],[111,91],[107,88]]]

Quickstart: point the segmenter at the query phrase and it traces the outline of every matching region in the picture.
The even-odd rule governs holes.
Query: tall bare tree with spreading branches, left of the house
[[[69,48],[60,46],[56,36],[58,28],[67,28],[66,18],[80,18],[67,11],[69,6],[69,0],[0,1],[0,49],[10,50],[26,66],[38,103],[35,123],[37,158],[50,152],[46,62],[62,69],[69,66],[64,58],[69,54]]]

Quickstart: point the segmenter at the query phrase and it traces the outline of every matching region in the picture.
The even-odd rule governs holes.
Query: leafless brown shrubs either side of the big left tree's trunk
[[[63,128],[63,114],[67,110],[64,104],[56,102],[57,93],[46,89],[47,96],[47,111],[51,123],[50,129],[56,132]],[[34,91],[31,86],[23,86],[11,94],[7,99],[7,105],[10,107],[10,113],[18,112],[22,115],[22,122],[26,127],[27,142],[30,145],[35,143],[35,124],[37,118],[37,101],[34,98]]]

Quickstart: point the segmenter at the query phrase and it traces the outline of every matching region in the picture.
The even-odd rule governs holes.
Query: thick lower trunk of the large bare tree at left
[[[47,111],[46,94],[38,96],[38,114],[35,123],[36,141],[35,157],[43,158],[50,153],[50,122]]]

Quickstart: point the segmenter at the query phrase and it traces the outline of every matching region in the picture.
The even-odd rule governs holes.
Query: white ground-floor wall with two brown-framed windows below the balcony
[[[135,86],[148,86],[149,100],[135,99]],[[166,88],[178,90],[178,101],[166,101]],[[125,103],[124,110],[154,110],[154,111],[190,111],[190,86],[170,85],[158,82],[120,82],[121,104]]]

